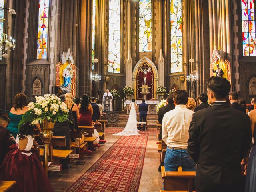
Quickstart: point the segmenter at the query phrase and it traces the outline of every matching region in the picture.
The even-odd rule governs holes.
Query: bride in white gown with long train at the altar
[[[135,99],[132,99],[132,103],[130,104],[129,108],[130,108],[130,114],[129,114],[129,118],[128,118],[128,122],[124,128],[124,130],[122,130],[122,132],[119,133],[115,133],[113,135],[140,135],[138,134],[138,129],[137,129],[137,112],[136,112],[136,108],[137,104],[135,103]]]

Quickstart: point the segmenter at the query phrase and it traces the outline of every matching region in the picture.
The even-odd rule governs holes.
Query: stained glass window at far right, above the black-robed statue
[[[256,56],[254,6],[255,0],[241,0],[244,56]]]

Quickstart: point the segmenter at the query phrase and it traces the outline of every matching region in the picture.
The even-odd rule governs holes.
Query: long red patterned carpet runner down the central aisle
[[[148,134],[122,136],[67,192],[137,192]]]

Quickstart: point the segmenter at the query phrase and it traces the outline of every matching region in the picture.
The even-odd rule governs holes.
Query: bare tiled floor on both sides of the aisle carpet
[[[101,156],[106,152],[119,136],[106,134],[106,144],[102,145],[99,150],[94,151],[92,156],[84,159],[84,165],[76,165],[72,162],[73,167],[70,170],[62,172],[54,172],[50,176],[50,181],[56,192],[66,191],[90,166],[92,166]],[[159,156],[157,146],[157,138],[154,134],[149,134],[146,155],[144,160],[144,167],[140,180],[139,192],[159,192],[162,188],[162,178],[158,172]]]

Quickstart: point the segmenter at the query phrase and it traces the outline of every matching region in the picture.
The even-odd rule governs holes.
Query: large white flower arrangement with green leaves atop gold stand
[[[47,119],[54,122],[63,122],[68,120],[69,109],[64,102],[61,102],[60,98],[54,94],[46,94],[44,96],[36,96],[36,102],[30,102],[28,104],[29,110],[22,116],[18,127],[26,122],[31,122],[35,125],[42,123],[43,120]],[[71,122],[72,123],[72,122]]]

